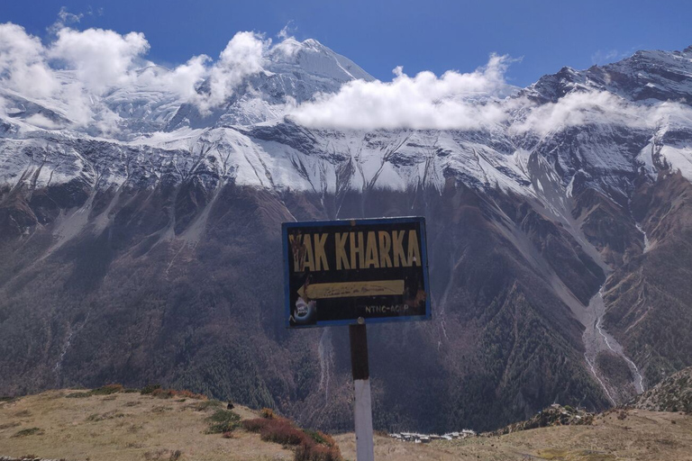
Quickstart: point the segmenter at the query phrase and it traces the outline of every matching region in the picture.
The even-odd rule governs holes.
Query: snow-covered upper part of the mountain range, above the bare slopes
[[[125,162],[131,174],[160,176],[171,163],[192,167],[191,147],[205,144],[213,148],[196,167],[241,185],[329,193],[337,187],[407,190],[425,185],[440,190],[445,177],[453,175],[474,188],[537,198],[542,184],[529,171],[533,152],[571,127],[598,125],[608,137],[613,131],[628,131],[628,139],[605,149],[580,147],[579,152],[542,159],[552,163],[549,167],[567,194],[573,179],[582,175],[608,193],[627,195],[626,177],[641,168],[653,175],[660,164],[692,177],[688,146],[678,139],[678,131],[692,123],[687,103],[692,98],[690,59],[690,49],[641,51],[603,68],[562,68],[523,90],[509,88],[485,98],[478,92],[447,96],[448,101],[460,97],[460,106],[492,106],[487,111],[502,113],[493,122],[466,130],[432,130],[434,122],[423,130],[405,123],[393,130],[335,129],[329,120],[324,126],[312,119],[308,126],[301,124],[310,118],[301,104],[317,96],[326,106],[329,95],[356,80],[387,84],[374,82],[349,59],[317,41],[287,39],[267,53],[262,67],[245,77],[229,98],[203,113],[196,104],[158,86],[160,76],[171,71],[156,66],[138,69],[132,85],[87,95],[94,108],[92,119],[82,124],[70,118],[70,107],[59,100],[25,98],[5,89],[0,180],[16,185],[21,172],[32,167],[35,159],[17,152],[41,143],[50,148],[64,138],[65,144],[93,140],[108,147],[97,158],[83,157],[78,150],[44,149],[37,186],[49,184],[51,174],[52,184],[69,181],[70,172],[77,171],[88,175],[84,180],[90,185],[96,176],[102,181],[99,186],[123,185]],[[69,86],[77,76],[75,71],[61,71],[59,78]],[[204,94],[209,85],[208,80],[202,82],[197,92]],[[514,95],[501,98],[513,90]],[[113,126],[99,131],[105,120]],[[648,142],[642,143],[644,138]],[[639,149],[636,155],[633,149]],[[154,154],[123,155],[122,150]],[[87,172],[85,160],[108,167],[87,167]],[[339,175],[347,165],[351,175]]]

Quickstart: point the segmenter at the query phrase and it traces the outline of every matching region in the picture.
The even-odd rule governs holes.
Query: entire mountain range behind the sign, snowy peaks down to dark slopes
[[[435,130],[305,122],[383,85],[316,41],[211,108],[212,79],[141,77],[79,124],[5,87],[0,392],[161,382],[349,429],[345,331],[283,328],[280,223],[423,215],[433,320],[369,329],[378,428],[629,401],[692,364],[690,76],[692,49],[641,51],[444,100],[504,115]]]

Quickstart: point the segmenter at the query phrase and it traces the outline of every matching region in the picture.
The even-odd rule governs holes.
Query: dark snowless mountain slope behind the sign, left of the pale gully
[[[345,330],[288,331],[282,319],[280,223],[329,218],[334,200],[190,180],[96,194],[87,224],[57,248],[58,220],[5,234],[0,386],[161,382],[349,429]],[[581,326],[545,278],[564,266],[587,299],[602,272],[539,212],[524,205],[514,236],[498,212],[453,184],[341,203],[344,216],[428,222],[435,321],[369,329],[378,427],[492,428],[554,400],[605,407],[580,360]]]

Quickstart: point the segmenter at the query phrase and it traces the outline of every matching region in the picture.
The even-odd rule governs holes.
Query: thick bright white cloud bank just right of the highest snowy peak
[[[395,68],[391,82],[355,80],[334,95],[317,95],[289,115],[312,127],[337,129],[476,129],[503,122],[506,113],[494,96],[504,95],[508,59],[493,55],[485,68],[461,74],[432,72],[407,76]]]

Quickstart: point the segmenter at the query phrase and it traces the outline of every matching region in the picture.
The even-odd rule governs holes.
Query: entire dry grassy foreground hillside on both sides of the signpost
[[[194,397],[62,390],[5,400],[0,402],[0,457],[31,455],[68,461],[296,458],[292,447],[250,432],[250,424],[244,425],[248,429],[241,423],[225,434],[209,433],[218,424],[214,415],[225,410],[225,404]],[[244,407],[236,406],[233,411],[243,421],[261,419],[257,411]],[[341,434],[335,439],[344,459],[355,459],[353,434]],[[592,425],[436,440],[430,444],[400,442],[379,435],[375,445],[378,460],[392,461],[684,461],[692,460],[692,415],[606,411],[597,415]]]

